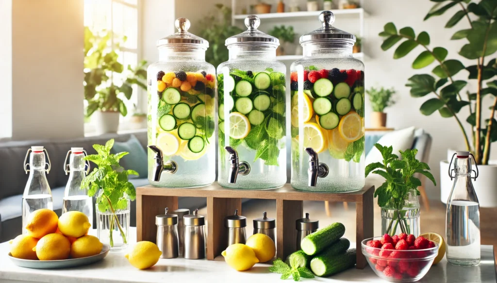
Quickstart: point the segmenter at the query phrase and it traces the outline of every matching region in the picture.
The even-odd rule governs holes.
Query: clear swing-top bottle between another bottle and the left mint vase
[[[84,161],[86,151],[82,147],[72,147],[68,151],[66,161],[64,162],[64,171],[69,173],[69,180],[64,190],[64,201],[62,204],[62,213],[68,211],[83,212],[93,226],[93,202],[88,196],[88,188],[81,187],[81,181],[90,170],[90,164]],[[69,157],[69,164],[67,159]]]

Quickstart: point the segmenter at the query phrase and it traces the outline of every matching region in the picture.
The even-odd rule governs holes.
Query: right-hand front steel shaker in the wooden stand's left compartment
[[[183,258],[201,259],[205,257],[205,218],[198,215],[198,209],[193,214],[185,215]]]

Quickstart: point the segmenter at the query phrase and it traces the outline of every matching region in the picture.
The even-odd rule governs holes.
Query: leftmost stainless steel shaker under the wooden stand
[[[161,258],[178,257],[178,216],[175,214],[156,216],[157,225],[157,246],[162,252]]]

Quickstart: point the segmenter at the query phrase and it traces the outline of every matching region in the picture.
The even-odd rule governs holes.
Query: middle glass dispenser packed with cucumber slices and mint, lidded
[[[279,40],[257,30],[226,40],[230,58],[217,68],[221,186],[271,189],[286,183],[286,67],[276,60]],[[229,154],[227,154],[229,153]]]

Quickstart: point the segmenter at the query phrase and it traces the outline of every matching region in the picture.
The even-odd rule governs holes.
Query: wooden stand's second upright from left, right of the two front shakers
[[[214,260],[228,246],[228,229],[224,226],[224,218],[242,215],[241,198],[207,197],[207,259]]]

